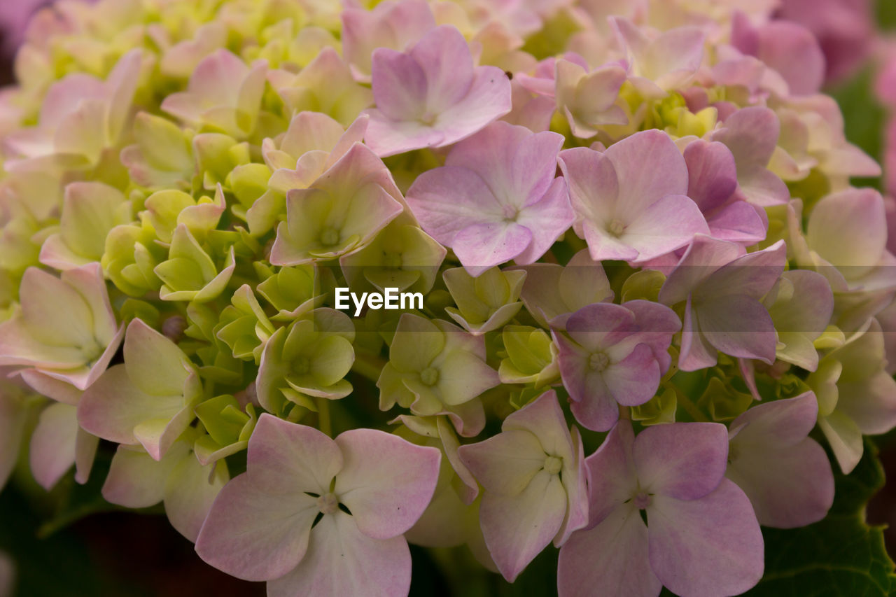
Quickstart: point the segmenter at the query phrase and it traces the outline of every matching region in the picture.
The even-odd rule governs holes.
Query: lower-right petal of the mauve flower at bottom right
[[[762,532],[730,480],[701,499],[653,497],[647,524],[650,567],[673,593],[736,595],[762,578]]]

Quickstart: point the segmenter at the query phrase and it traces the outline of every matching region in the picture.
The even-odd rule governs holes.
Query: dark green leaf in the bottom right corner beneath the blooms
[[[883,545],[883,526],[868,526],[865,506],[883,487],[874,444],[849,475],[835,472],[836,497],[828,516],[800,529],[762,529],[765,575],[747,595],[849,595],[896,593],[893,562]]]

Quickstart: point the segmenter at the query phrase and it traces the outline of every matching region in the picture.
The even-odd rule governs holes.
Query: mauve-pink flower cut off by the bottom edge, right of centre
[[[727,458],[719,423],[656,425],[635,437],[619,421],[585,459],[590,523],[560,549],[560,596],[654,597],[665,585],[710,597],[759,582],[762,532],[744,491],[724,477]]]

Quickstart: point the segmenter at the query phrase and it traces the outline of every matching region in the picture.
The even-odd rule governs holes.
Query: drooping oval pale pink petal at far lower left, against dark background
[[[31,436],[29,459],[34,480],[47,491],[72,468],[78,436],[75,407],[56,402],[40,413]]]

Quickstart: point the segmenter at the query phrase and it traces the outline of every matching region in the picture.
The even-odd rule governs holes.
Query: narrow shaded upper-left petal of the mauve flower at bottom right
[[[597,451],[585,459],[591,526],[603,521],[638,492],[633,443],[632,422],[620,420]]]

